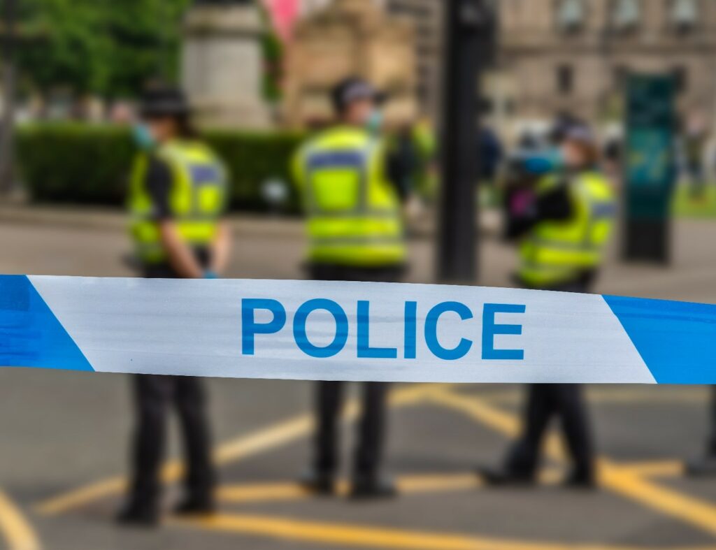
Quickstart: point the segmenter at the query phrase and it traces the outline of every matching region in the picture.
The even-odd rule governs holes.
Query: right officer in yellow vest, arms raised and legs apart
[[[518,239],[518,282],[525,288],[586,293],[604,258],[614,224],[610,183],[597,165],[597,145],[589,129],[564,130],[563,169],[540,180],[531,200],[509,197],[508,236]],[[573,461],[566,485],[595,484],[594,452],[581,388],[568,384],[530,386],[523,433],[500,468],[480,468],[491,484],[532,483],[548,424],[561,423]]]

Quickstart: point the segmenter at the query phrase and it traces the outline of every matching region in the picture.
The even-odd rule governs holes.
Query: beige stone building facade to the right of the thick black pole
[[[621,119],[629,72],[677,77],[684,114],[713,119],[714,0],[498,0],[500,60],[495,111],[512,121],[567,111],[591,122]]]

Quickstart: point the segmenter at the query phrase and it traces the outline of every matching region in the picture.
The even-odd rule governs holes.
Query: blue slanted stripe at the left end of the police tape
[[[0,366],[94,370],[25,275],[0,275]]]

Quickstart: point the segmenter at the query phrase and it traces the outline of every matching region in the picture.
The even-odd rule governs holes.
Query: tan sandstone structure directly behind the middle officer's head
[[[333,118],[330,90],[360,75],[390,94],[387,121],[417,116],[415,32],[372,1],[334,0],[299,21],[286,59],[284,120],[291,127]]]

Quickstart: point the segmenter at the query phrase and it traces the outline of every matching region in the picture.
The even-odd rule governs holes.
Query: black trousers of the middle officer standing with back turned
[[[402,267],[358,268],[339,265],[311,265],[314,280],[365,281],[395,283],[400,280]],[[338,424],[343,403],[345,383],[319,382],[316,386],[316,436],[314,440],[314,468],[332,475],[338,468]],[[353,470],[355,476],[377,474],[384,447],[385,418],[389,384],[363,383],[362,416],[358,423],[358,442]]]

